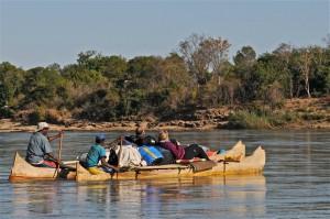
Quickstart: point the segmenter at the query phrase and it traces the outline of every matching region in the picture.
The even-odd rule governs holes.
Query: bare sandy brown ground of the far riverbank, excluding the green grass
[[[193,120],[172,120],[158,122],[147,121],[148,130],[166,129],[170,131],[206,131],[215,129],[231,129],[227,125],[232,112],[245,109],[244,106],[223,106],[216,109],[196,111]],[[329,129],[330,130],[330,97],[290,99],[284,102],[274,113],[287,114],[284,122],[268,129]],[[249,118],[248,118],[249,119]],[[280,120],[283,118],[278,118]],[[86,120],[69,120],[66,124],[51,124],[52,130],[66,131],[133,131],[141,121],[92,122]],[[261,128],[266,129],[266,128]],[[28,125],[10,119],[0,119],[0,132],[33,132],[35,125]]]

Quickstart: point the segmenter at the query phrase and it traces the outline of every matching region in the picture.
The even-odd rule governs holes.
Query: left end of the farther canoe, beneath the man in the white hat
[[[20,156],[16,152],[13,161],[13,165],[11,168],[11,173],[9,176],[9,180],[29,180],[29,179],[75,179],[76,172],[65,173],[59,169],[57,173],[56,168],[45,168],[45,167],[35,167],[29,164],[24,158]]]

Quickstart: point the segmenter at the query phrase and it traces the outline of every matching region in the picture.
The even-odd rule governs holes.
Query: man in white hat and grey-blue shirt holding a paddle
[[[38,122],[36,131],[30,138],[25,160],[33,166],[56,168],[58,165],[50,142],[61,138],[63,131],[54,136],[48,136],[48,123]]]

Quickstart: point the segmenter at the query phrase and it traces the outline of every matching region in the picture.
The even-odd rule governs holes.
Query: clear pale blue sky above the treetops
[[[193,33],[258,54],[279,43],[323,45],[330,0],[0,0],[0,62],[75,63],[79,52],[166,56]]]

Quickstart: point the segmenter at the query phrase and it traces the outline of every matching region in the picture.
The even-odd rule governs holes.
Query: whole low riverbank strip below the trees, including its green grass
[[[260,107],[260,106],[258,106]],[[249,110],[248,110],[249,109]],[[270,110],[268,110],[270,111]],[[224,106],[197,110],[189,120],[157,121],[145,118],[140,121],[91,122],[69,120],[65,124],[51,124],[52,130],[66,131],[133,131],[146,121],[150,130],[206,131],[213,129],[330,129],[330,97],[290,99],[268,114],[251,111],[251,106]],[[33,132],[35,125],[10,119],[0,120],[0,132]]]

